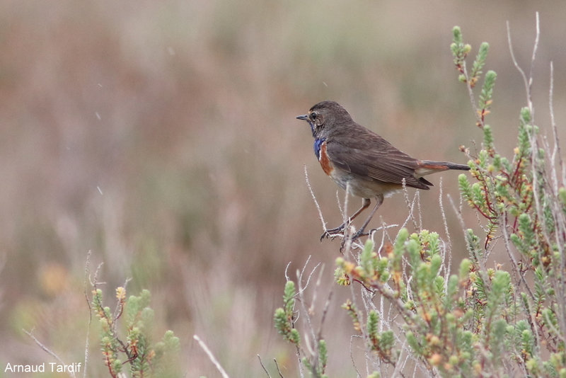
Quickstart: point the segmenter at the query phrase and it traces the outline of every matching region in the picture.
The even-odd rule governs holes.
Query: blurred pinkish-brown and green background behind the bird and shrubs
[[[233,377],[265,377],[258,354],[296,377],[294,348],[272,326],[285,267],[294,277],[309,255],[323,263],[325,298],[340,256],[340,241],[318,239],[304,166],[328,225],[341,216],[294,117],[332,99],[412,156],[466,163],[458,146],[482,135],[449,50],[460,25],[473,57],[490,43],[487,123],[509,156],[526,96],[505,21],[528,71],[536,11],[535,118],[550,134],[550,61],[558,125],[566,119],[564,1],[1,1],[0,366],[52,361],[23,328],[83,361],[91,251],[110,307],[127,277],[128,294],[151,291],[155,338],[180,338],[187,377],[218,375],[195,333]],[[456,262],[466,251],[446,195],[458,202],[457,176],[431,176],[420,195],[424,227],[446,239],[442,178]],[[407,214],[398,195],[373,224]],[[337,308],[350,291],[334,290]],[[336,310],[326,321],[328,373],[352,377],[350,319]],[[96,336],[95,377],[106,374]]]

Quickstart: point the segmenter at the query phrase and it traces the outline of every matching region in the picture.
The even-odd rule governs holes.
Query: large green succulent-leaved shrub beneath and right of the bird
[[[566,377],[565,178],[558,180],[551,154],[539,147],[530,108],[520,110],[512,156],[499,154],[485,124],[497,74],[485,74],[477,107],[473,94],[489,46],[480,46],[468,71],[471,47],[460,28],[453,35],[454,64],[483,132],[474,155],[462,149],[471,177],[461,174],[458,185],[482,227],[464,230],[469,258],[457,275],[434,231],[402,228],[379,251],[371,240],[359,245],[336,259],[337,284],[362,290],[342,309],[364,340],[368,366],[379,367],[370,377],[403,371],[406,353],[423,372],[441,377]],[[503,260],[490,255],[497,246],[507,253]]]

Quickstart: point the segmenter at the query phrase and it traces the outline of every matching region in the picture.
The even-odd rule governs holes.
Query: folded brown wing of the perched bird
[[[432,185],[424,178],[415,177],[417,159],[365,127],[356,126],[360,128],[327,141],[326,151],[335,166],[384,183],[401,184],[405,178],[405,184],[413,188],[428,189]]]

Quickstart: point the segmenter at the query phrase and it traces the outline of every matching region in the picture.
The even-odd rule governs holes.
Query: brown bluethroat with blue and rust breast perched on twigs
[[[325,230],[320,240],[342,231],[369,207],[371,198],[375,198],[374,209],[352,240],[364,235],[364,229],[383,203],[383,198],[402,190],[403,180],[406,186],[429,190],[432,183],[422,176],[448,169],[470,169],[466,165],[448,161],[412,158],[378,134],[354,122],[350,113],[334,101],[322,101],[308,110],[308,114],[299,115],[297,119],[305,120],[311,126],[314,153],[324,173],[340,188],[363,199],[362,207],[347,222]]]

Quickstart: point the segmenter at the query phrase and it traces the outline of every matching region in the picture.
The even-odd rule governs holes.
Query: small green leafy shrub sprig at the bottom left
[[[110,376],[119,377],[123,365],[128,363],[131,377],[180,377],[179,339],[173,331],[166,331],[161,341],[151,343],[154,311],[149,307],[148,290],[143,290],[139,297],[132,295],[126,299],[125,287],[118,287],[115,314],[109,307],[103,307],[102,290],[95,287],[92,296],[91,307],[100,322],[100,350]],[[124,314],[126,342],[117,328]]]

